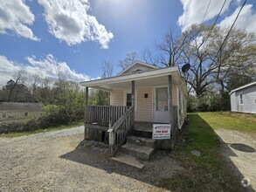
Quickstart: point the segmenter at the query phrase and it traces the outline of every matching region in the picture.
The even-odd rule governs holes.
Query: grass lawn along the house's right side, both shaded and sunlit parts
[[[221,143],[214,129],[227,128],[255,132],[255,116],[239,116],[227,112],[190,113],[183,128],[183,140],[170,154],[183,167],[172,178],[159,182],[171,191],[246,191],[230,162],[221,155]],[[198,150],[201,156],[191,154]]]

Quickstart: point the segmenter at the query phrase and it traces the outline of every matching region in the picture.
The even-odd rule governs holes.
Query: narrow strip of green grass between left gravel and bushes
[[[61,130],[61,129],[66,129],[66,128],[73,128],[73,127],[78,127],[84,125],[83,121],[76,121],[76,122],[71,122],[66,125],[60,125],[56,127],[48,127],[46,129],[38,129],[35,131],[31,132],[18,132],[18,133],[10,133],[10,134],[0,134],[0,137],[7,137],[7,138],[13,138],[13,137],[20,137],[24,135],[30,135],[30,134],[39,134],[39,133],[46,133],[50,131],[56,131],[56,130]]]

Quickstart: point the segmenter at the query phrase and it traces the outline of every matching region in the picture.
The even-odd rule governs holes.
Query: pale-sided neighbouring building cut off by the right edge
[[[256,81],[232,90],[232,112],[256,113]]]

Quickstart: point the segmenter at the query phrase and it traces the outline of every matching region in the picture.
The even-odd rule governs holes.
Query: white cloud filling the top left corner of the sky
[[[35,20],[23,0],[0,0],[0,33],[14,31],[18,36],[39,41],[28,25]]]

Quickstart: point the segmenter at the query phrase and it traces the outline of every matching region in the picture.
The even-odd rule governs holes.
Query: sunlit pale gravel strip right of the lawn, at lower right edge
[[[224,144],[223,154],[234,164],[256,190],[256,134],[218,129],[215,131]]]

